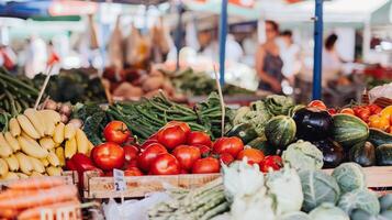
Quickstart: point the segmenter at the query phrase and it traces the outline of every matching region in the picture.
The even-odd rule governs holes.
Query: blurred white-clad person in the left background
[[[34,78],[35,75],[45,72],[47,62],[46,45],[44,40],[37,35],[32,35],[27,43],[24,73],[29,78]]]

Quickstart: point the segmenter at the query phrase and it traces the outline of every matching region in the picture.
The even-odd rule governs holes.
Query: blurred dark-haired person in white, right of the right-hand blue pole
[[[331,34],[324,44],[323,51],[323,81],[336,79],[341,70],[343,62],[336,51],[336,42],[338,37],[336,34]]]

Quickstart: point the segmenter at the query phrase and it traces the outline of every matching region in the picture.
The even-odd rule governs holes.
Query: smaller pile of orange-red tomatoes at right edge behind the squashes
[[[324,102],[320,100],[311,101],[307,106],[326,110],[332,116],[336,113],[347,113],[356,116],[366,123],[368,123],[370,128],[379,129],[392,134],[392,106],[382,109],[381,107],[371,103],[365,106],[354,106],[352,108],[344,108],[339,111],[334,108],[327,109]]]

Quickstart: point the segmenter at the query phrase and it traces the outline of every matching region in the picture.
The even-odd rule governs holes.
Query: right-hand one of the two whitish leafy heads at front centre
[[[267,175],[266,186],[268,194],[277,202],[278,213],[301,210],[303,193],[301,179],[295,169],[284,167],[279,172],[270,172]]]

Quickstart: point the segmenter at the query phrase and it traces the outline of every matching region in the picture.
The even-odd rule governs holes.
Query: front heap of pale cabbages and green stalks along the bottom
[[[169,195],[171,200],[149,210],[149,219],[387,220],[392,213],[392,196],[378,197],[367,189],[355,163],[341,164],[332,175],[290,165],[262,174],[244,160],[223,165],[223,183],[169,189]]]

